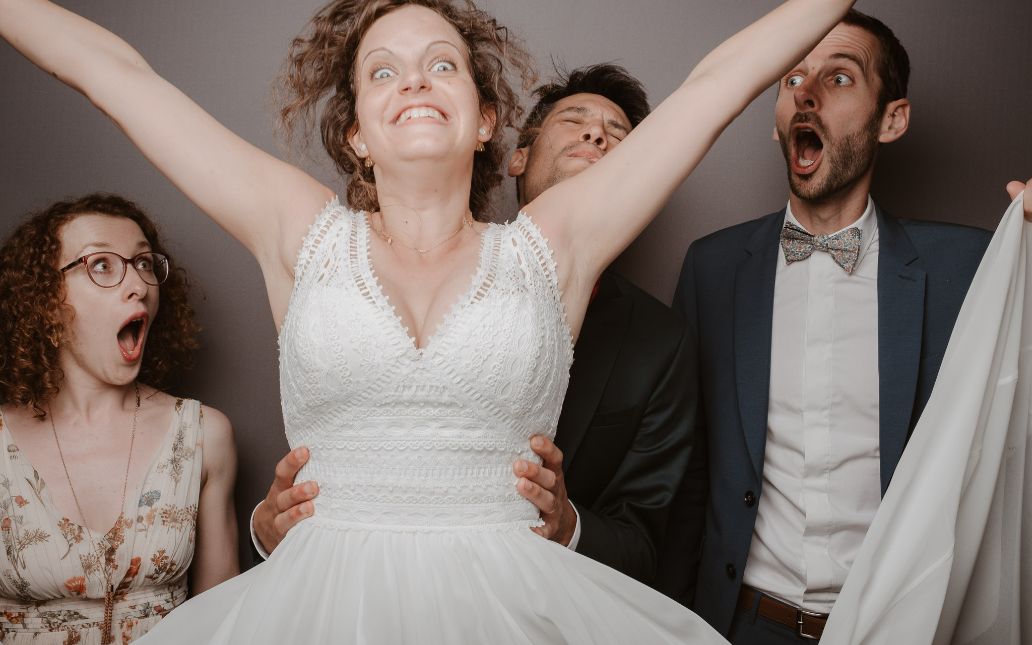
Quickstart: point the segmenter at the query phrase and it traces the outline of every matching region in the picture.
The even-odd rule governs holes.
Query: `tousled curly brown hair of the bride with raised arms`
[[[378,211],[376,178],[364,159],[355,155],[348,135],[358,125],[355,105],[358,45],[378,19],[408,5],[437,11],[458,31],[466,45],[467,63],[477,85],[481,106],[496,115],[494,134],[477,153],[473,163],[470,209],[487,221],[490,192],[503,181],[502,167],[508,147],[504,131],[516,130],[523,108],[510,83],[518,79],[524,90],[537,76],[534,58],[523,43],[470,0],[335,0],[309,23],[291,43],[290,56],[278,83],[279,127],[288,148],[300,131],[308,142],[317,122],[323,148],[336,169],[348,175],[348,204],[355,209]],[[320,114],[321,109],[321,114]]]

